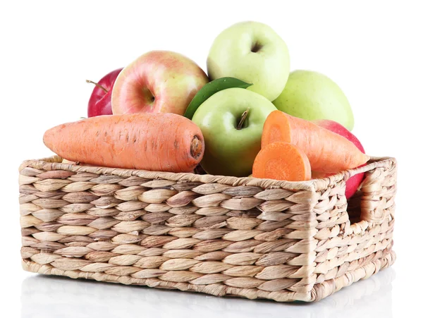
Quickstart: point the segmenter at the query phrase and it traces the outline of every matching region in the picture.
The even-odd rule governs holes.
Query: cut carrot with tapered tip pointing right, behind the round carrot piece
[[[313,171],[338,173],[369,160],[369,156],[345,137],[283,111],[272,111],[264,122],[262,147],[276,141],[300,147],[307,154]]]

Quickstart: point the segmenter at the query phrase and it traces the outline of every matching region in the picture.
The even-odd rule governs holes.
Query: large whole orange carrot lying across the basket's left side
[[[84,164],[150,171],[188,172],[200,163],[200,128],[176,114],[97,116],[44,133],[60,157]]]

